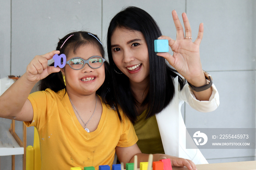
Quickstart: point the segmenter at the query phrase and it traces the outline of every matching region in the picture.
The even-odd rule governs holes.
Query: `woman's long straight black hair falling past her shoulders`
[[[118,112],[118,106],[120,106],[132,123],[135,123],[136,117],[138,116],[136,106],[139,103],[133,97],[129,85],[129,78],[125,76],[125,74],[117,74],[115,72],[115,70],[121,72],[114,64],[111,51],[111,36],[116,28],[140,31],[147,42],[150,82],[147,88],[148,92],[145,91],[147,93],[146,98],[142,103],[142,105],[148,106],[148,114],[146,118],[161,112],[170,101],[172,101],[174,96],[173,79],[178,76],[178,74],[176,74],[176,70],[165,63],[163,57],[157,56],[154,52],[154,40],[162,34],[155,20],[146,11],[138,7],[127,7],[114,16],[109,24],[107,37],[110,73],[112,74],[113,83],[113,103]],[[180,84],[180,89],[182,89],[185,80],[178,76],[178,82]]]

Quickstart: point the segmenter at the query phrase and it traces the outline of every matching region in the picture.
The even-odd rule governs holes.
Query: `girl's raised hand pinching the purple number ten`
[[[53,58],[54,54],[60,54],[60,51],[54,50],[44,55],[37,55],[27,66],[27,80],[38,82],[51,73],[60,71],[59,67],[48,66],[48,60]]]

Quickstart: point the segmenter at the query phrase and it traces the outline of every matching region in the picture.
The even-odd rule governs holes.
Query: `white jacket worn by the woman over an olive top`
[[[165,154],[190,159],[195,164],[208,163],[199,149],[186,149],[186,127],[181,115],[181,105],[188,103],[200,112],[211,112],[219,106],[219,93],[212,84],[209,101],[195,98],[188,84],[180,91],[178,77],[174,79],[175,96],[170,104],[156,115]]]

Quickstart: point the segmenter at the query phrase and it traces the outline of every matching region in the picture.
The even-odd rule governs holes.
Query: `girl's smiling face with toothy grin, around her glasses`
[[[76,54],[71,52],[67,55],[67,61],[74,57],[80,57],[84,60],[92,56],[98,55],[102,57],[97,47],[87,44],[80,46]],[[87,63],[80,70],[74,70],[66,65],[61,72],[65,76],[67,92],[76,93],[78,95],[95,94],[105,80],[104,64],[98,69],[92,69]]]

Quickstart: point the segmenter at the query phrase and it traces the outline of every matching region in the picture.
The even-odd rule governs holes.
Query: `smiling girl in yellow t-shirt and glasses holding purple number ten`
[[[53,67],[54,63],[48,66],[55,54],[67,56],[64,68]],[[97,95],[104,96],[107,81],[111,81],[103,57],[96,35],[72,32],[60,39],[56,51],[35,56],[26,73],[0,96],[1,117],[37,128],[42,169],[111,166],[115,152],[124,164],[136,154],[140,162],[147,161],[136,144],[138,138],[130,121]],[[29,94],[39,80],[42,91]],[[155,161],[163,158],[166,155],[154,155]],[[195,169],[185,159],[172,161]]]

